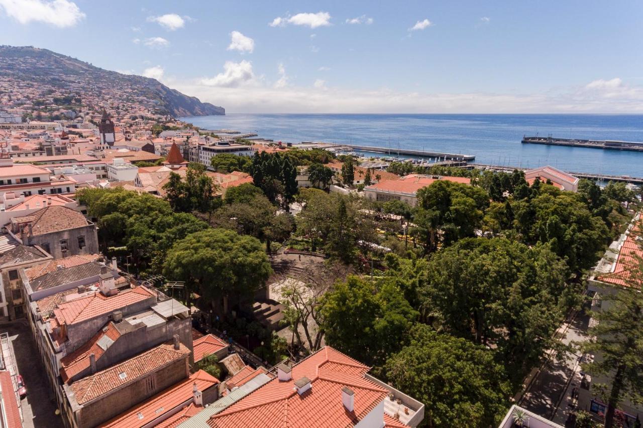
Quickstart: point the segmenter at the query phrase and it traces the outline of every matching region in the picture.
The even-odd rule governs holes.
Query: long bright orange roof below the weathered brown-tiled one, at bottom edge
[[[188,379],[170,386],[170,388],[161,391],[154,397],[145,400],[138,406],[134,406],[122,415],[116,416],[109,422],[106,422],[101,427],[118,427],[118,428],[139,428],[143,427],[156,418],[159,418],[168,412],[180,406],[182,403],[192,400],[194,397],[194,384],[197,384],[197,389],[203,392],[208,388],[212,388],[219,383],[219,380],[211,375],[208,375],[203,370],[199,370]],[[159,409],[162,409],[159,411]],[[181,422],[185,422],[190,416],[194,416],[199,411],[203,410],[201,406],[195,406],[193,402],[186,404],[183,409],[179,410],[176,414],[171,415],[163,422],[155,425],[158,427],[175,427]],[[180,422],[179,422],[180,420]]]

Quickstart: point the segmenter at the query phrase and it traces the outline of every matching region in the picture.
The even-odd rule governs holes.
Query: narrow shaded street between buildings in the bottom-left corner
[[[27,395],[21,400],[24,427],[62,428],[62,420],[55,414],[56,399],[49,388],[30,328],[14,323],[0,326],[0,332],[7,332],[9,335],[18,373],[22,375],[27,387]]]

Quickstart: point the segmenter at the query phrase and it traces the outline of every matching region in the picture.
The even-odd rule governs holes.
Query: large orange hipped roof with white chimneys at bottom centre
[[[333,364],[329,364],[333,363]],[[208,420],[210,427],[350,427],[358,424],[388,391],[366,379],[368,367],[326,346],[299,362],[293,378],[275,378]],[[311,388],[299,395],[294,382],[311,379]],[[354,411],[342,404],[341,389],[355,393]]]

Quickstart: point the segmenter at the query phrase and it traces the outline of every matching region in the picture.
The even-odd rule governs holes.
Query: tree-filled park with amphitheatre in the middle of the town
[[[131,255],[141,276],[185,281],[183,301],[199,296],[199,305],[224,318],[266,285],[277,249],[320,254],[323,268],[308,289],[283,293],[290,344],[249,321],[239,328],[254,329],[265,342],[260,352],[275,359],[325,343],[372,366],[426,404],[429,427],[497,425],[545,353],[565,351],[554,332],[581,307],[590,269],[639,204],[620,184],[581,181],[572,193],[529,185],[518,171],[459,169],[472,185],[436,181],[418,192],[417,207],[368,201],[321,190],[330,155],[289,152],[213,157],[219,172],[253,177],[224,197],[203,168],[190,166],[185,177],[172,175],[164,199],[113,188],[79,190],[78,201],[96,218],[106,254]],[[302,165],[320,189],[297,188]],[[341,181],[352,183],[354,166],[344,165]],[[295,205],[301,210],[292,215]],[[329,280],[330,271],[341,274]],[[601,328],[622,323],[621,348],[595,370],[627,377],[613,391],[617,403],[641,392],[632,374],[641,353],[631,350],[640,350],[641,323],[632,320],[643,303],[629,296],[615,307]],[[300,330],[311,322],[314,331]]]

